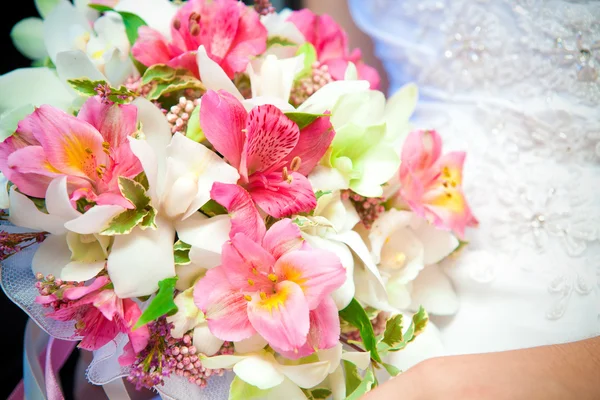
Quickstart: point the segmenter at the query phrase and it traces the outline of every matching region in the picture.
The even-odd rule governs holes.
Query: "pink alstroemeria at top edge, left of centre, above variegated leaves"
[[[169,42],[160,32],[140,27],[133,56],[148,67],[167,64],[199,77],[196,53],[204,45],[208,56],[233,79],[267,49],[267,30],[259,15],[237,0],[188,1],[173,19],[171,36]]]

